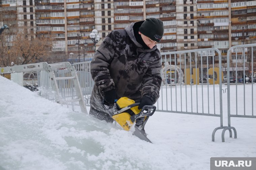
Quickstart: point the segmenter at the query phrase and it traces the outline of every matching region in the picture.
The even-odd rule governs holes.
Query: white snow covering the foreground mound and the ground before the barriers
[[[229,138],[227,131],[222,143],[222,130],[212,141],[219,117],[155,112],[145,127],[154,143],[150,144],[2,76],[0,96],[0,169],[4,170],[206,170],[211,157],[256,157],[252,118],[231,118],[237,139]],[[227,125],[226,114],[223,123]]]

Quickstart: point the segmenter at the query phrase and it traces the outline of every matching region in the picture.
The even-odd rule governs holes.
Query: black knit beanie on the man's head
[[[159,43],[164,34],[164,24],[160,19],[147,18],[139,27],[139,32]]]

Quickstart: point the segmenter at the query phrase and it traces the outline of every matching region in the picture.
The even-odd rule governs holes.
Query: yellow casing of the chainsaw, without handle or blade
[[[119,109],[125,108],[131,104],[134,104],[135,101],[131,100],[127,97],[122,97],[120,98],[117,102],[116,105]],[[132,107],[130,108],[130,110],[134,113],[134,114],[138,114],[141,109],[138,109],[138,106]],[[131,121],[131,115],[128,112],[122,112],[116,115],[113,115],[112,118],[118,123],[120,124],[124,130],[130,130],[131,126],[133,125],[134,122]]]

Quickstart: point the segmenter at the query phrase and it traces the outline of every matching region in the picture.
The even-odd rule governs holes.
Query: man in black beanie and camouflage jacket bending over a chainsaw
[[[95,84],[90,115],[113,122],[109,114],[113,112],[115,99],[128,97],[140,101],[139,109],[157,101],[162,65],[156,44],[163,33],[161,20],[147,18],[107,35],[91,62]]]

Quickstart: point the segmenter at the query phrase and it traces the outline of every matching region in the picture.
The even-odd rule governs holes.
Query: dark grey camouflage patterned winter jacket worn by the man
[[[118,98],[133,100],[159,98],[161,86],[161,55],[157,47],[144,50],[134,36],[133,24],[107,35],[94,54],[91,75],[95,82],[90,104],[106,112],[103,92],[115,89]]]

